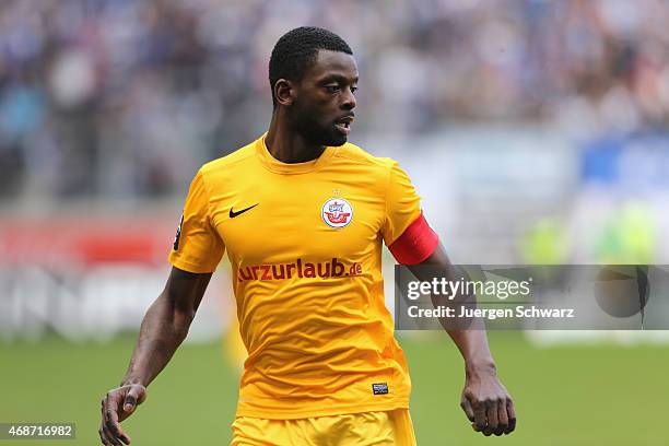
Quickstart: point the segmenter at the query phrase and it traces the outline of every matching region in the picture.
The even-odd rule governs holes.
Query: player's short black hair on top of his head
[[[274,85],[279,79],[300,82],[304,73],[316,62],[321,49],[353,55],[349,44],[331,31],[316,26],[301,26],[282,35],[270,57],[269,80],[272,104],[277,106]]]

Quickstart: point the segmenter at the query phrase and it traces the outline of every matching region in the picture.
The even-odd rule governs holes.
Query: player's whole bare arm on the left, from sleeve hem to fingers
[[[121,386],[102,400],[99,437],[104,445],[130,444],[120,422],[146,399],[146,386],[167,365],[181,344],[200,306],[211,273],[173,268],[160,296],[149,307]]]

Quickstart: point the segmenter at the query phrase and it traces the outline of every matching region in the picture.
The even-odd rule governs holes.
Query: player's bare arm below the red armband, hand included
[[[418,268],[410,267],[411,272],[419,280],[432,280],[432,272],[421,271],[421,266],[437,267],[436,269],[449,281],[458,281],[462,278],[461,271],[450,262],[442,244]],[[472,296],[457,297],[470,300]],[[438,300],[439,297],[433,295],[435,306],[444,304]],[[478,320],[473,320],[473,322],[479,324]],[[484,327],[471,330],[453,330],[444,326],[444,329],[465,360],[465,388],[460,407],[473,423],[474,430],[486,436],[512,433],[516,429],[514,402],[497,377],[497,369],[488,345]]]

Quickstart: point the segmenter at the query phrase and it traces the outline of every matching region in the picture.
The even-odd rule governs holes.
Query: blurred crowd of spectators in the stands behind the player
[[[656,0],[4,0],[0,195],[181,191],[199,164],[263,131],[270,50],[301,24],[352,46],[357,134],[662,129],[667,23]]]

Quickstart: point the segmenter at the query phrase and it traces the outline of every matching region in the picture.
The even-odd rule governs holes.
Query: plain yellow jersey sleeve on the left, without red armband
[[[188,272],[213,272],[224,253],[225,245],[211,221],[209,193],[200,171],[190,184],[168,261]]]

